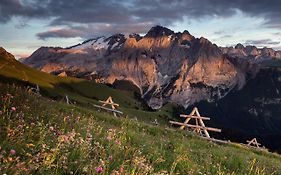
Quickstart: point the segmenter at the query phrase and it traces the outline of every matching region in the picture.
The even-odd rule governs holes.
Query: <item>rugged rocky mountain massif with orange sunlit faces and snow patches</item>
[[[256,62],[244,59],[251,55],[280,57],[266,48],[219,48],[188,31],[175,33],[155,26],[144,36],[116,34],[69,48],[42,47],[24,63],[98,83],[130,81],[148,105],[158,109],[166,102],[188,107],[202,100],[215,101],[241,89],[247,77],[254,77],[259,70]]]

